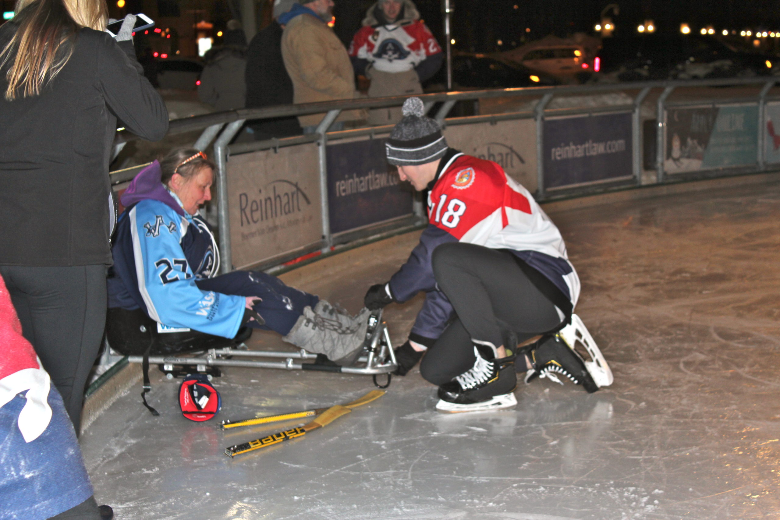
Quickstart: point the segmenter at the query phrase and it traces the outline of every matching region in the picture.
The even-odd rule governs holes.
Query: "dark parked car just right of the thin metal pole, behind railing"
[[[557,85],[555,78],[484,54],[452,56],[452,84],[458,89]]]

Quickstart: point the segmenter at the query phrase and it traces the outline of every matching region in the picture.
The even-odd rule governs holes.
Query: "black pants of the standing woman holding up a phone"
[[[22,322],[22,334],[62,395],[78,435],[84,387],[105,327],[105,265],[2,265],[0,274]]]

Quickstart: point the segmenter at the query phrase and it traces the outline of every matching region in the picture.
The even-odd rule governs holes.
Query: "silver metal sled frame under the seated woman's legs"
[[[395,361],[387,324],[381,320],[381,316],[381,310],[371,313],[366,331],[366,342],[363,346],[363,354],[357,359],[355,366],[303,363],[306,359],[317,359],[317,354],[307,352],[303,348],[298,352],[247,350],[246,345],[243,343],[236,348],[211,348],[206,352],[196,353],[193,357],[149,356],[149,363],[162,365],[163,370],[168,373],[174,370],[174,366],[186,365],[197,366],[198,372],[206,372],[209,366],[245,366],[246,368],[356,373],[367,376],[377,376],[383,373],[390,374],[398,368],[398,363]],[[236,358],[275,358],[284,359],[284,361],[258,361]],[[129,363],[143,363],[144,356],[129,356],[127,360]],[[375,377],[374,383],[376,383]]]

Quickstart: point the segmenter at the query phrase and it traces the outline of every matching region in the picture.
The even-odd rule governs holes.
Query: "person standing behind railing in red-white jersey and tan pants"
[[[441,68],[444,53],[412,0],[379,0],[353,37],[349,58],[355,72],[371,80],[368,96],[387,97],[422,94],[422,83]],[[392,125],[399,119],[399,108],[369,114],[372,125]]]

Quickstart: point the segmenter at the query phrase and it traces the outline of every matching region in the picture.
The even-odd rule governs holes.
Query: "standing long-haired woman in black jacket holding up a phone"
[[[168,111],[136,61],[134,16],[114,39],[105,0],[16,9],[0,27],[0,274],[78,432],[105,326],[117,120],[160,140]]]

